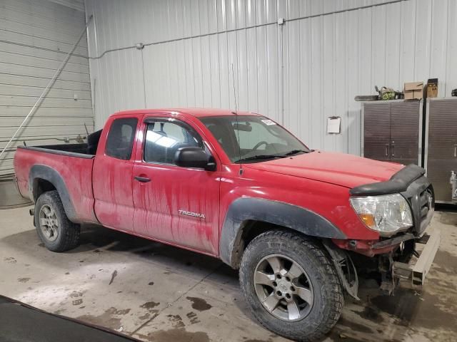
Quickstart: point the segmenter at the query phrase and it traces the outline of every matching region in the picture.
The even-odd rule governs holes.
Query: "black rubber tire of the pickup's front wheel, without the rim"
[[[263,306],[257,294],[258,292],[256,292],[256,289],[259,291],[259,285],[254,284],[255,282],[258,283],[258,281],[254,281],[254,274],[258,270],[256,267],[265,262],[265,260],[268,261],[268,258],[277,258],[278,256],[284,256],[286,259],[293,261],[293,264],[298,264],[301,267],[304,271],[303,275],[308,279],[306,284],[312,291],[310,295],[312,304],[310,305],[306,301],[300,304],[301,307],[305,308],[303,309],[305,313],[303,315],[306,316],[296,318],[295,321],[278,318],[273,316],[272,313],[275,311],[276,313],[281,313],[281,310],[288,309],[286,296],[288,296],[288,301],[291,301],[290,296],[292,293],[286,294],[284,292],[281,301],[276,306],[277,309],[270,312]],[[282,259],[282,264],[288,262],[286,259]],[[288,267],[290,268],[289,271],[291,271],[291,266]],[[271,272],[274,272],[273,268],[271,268],[271,271],[265,271],[268,274]],[[273,276],[273,279],[278,281],[274,274],[268,276]],[[343,309],[344,299],[341,282],[331,260],[323,247],[319,246],[317,242],[313,242],[313,240],[299,234],[273,230],[258,235],[248,244],[243,253],[239,277],[243,295],[253,316],[262,326],[286,338],[296,341],[316,341],[323,338],[336,324]],[[295,281],[301,281],[297,279]],[[276,282],[273,282],[273,284],[274,286],[283,285]],[[263,286],[261,289],[265,289],[264,296],[272,296],[279,288],[272,287],[272,294],[270,295],[268,295],[268,286]],[[298,291],[293,286],[290,289],[291,291]],[[281,293],[281,291],[278,292]],[[293,298],[297,298],[297,294],[293,295]],[[292,300],[300,301],[300,299]],[[289,312],[288,310],[286,311]],[[288,318],[291,318],[291,316],[288,316]]]

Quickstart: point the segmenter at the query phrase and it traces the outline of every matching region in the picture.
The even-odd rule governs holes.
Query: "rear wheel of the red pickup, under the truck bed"
[[[50,212],[50,218],[46,215]],[[41,215],[41,217],[40,217]],[[42,224],[41,219],[53,222],[52,229],[48,224]],[[39,238],[44,246],[52,252],[65,252],[74,249],[79,244],[79,224],[74,224],[66,217],[64,205],[61,202],[59,193],[56,191],[44,192],[35,203],[35,227]],[[52,231],[53,233],[47,234]],[[51,235],[51,236],[49,236]]]

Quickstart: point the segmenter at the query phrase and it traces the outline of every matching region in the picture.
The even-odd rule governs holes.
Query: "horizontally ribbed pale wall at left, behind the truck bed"
[[[83,11],[61,4],[0,0],[0,150],[29,113],[84,26]],[[84,36],[76,47],[76,56],[69,59],[41,107],[2,156],[0,175],[14,171],[14,151],[24,141],[27,145],[64,143],[56,139],[86,136],[84,123],[93,130],[87,53]]]

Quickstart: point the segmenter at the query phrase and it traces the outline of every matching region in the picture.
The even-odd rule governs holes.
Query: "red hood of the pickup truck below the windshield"
[[[404,167],[404,165],[393,162],[379,162],[356,155],[321,151],[243,166],[318,180],[350,189],[359,185],[389,180],[393,174]]]

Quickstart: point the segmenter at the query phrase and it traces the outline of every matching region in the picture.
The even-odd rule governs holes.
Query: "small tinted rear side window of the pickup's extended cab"
[[[111,123],[108,138],[106,138],[106,155],[121,160],[130,160],[137,123],[136,118],[120,118]]]

